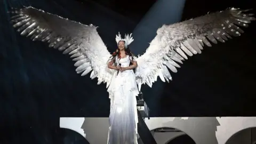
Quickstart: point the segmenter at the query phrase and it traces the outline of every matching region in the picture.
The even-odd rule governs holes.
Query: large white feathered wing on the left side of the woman
[[[11,18],[15,23],[13,27],[19,27],[21,35],[33,41],[48,42],[49,47],[63,51],[63,54],[68,53],[76,61],[78,74],[84,76],[92,71],[90,77],[98,77],[98,84],[106,82],[108,87],[113,74],[107,68],[111,54],[102,42],[97,27],[83,25],[33,7],[13,10],[12,13],[15,14]]]

